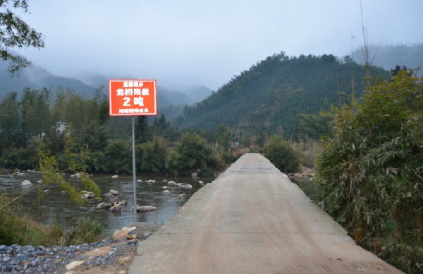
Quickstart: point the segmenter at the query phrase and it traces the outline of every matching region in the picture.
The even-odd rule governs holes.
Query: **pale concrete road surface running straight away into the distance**
[[[137,248],[129,273],[401,273],[259,154],[240,157]]]

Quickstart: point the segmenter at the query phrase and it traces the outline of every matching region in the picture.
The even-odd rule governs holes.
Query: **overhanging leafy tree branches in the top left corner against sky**
[[[19,16],[12,12],[21,9],[27,13],[26,0],[0,1],[0,59],[11,61],[11,73],[31,65],[31,62],[22,56],[12,54],[13,47],[44,47],[42,34],[30,28]]]

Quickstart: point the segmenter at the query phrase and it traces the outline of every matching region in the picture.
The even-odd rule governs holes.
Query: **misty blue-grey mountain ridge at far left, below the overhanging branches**
[[[32,68],[23,68],[11,76],[7,71],[8,63],[0,61],[0,97],[16,91],[18,95],[22,94],[24,88],[42,89],[56,88],[61,85],[63,88],[71,88],[85,97],[94,97],[95,89],[82,81],[55,76],[40,66]]]

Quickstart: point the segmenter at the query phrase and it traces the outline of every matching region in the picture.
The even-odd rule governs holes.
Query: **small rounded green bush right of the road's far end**
[[[300,167],[300,159],[293,146],[281,136],[270,136],[264,147],[264,156],[281,172],[297,172]]]

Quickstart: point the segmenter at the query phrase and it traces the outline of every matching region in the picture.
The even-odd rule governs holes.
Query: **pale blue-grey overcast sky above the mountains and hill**
[[[359,0],[30,0],[22,18],[44,35],[20,49],[59,76],[157,79],[216,90],[275,52],[344,56],[362,45]],[[423,42],[422,0],[362,0],[374,44]],[[355,37],[352,39],[352,35]]]

